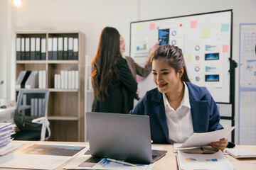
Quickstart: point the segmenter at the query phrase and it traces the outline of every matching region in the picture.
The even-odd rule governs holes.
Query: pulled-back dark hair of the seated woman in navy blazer
[[[182,50],[174,45],[161,45],[154,52],[153,57],[151,58],[151,64],[153,60],[163,59],[165,62],[169,63],[171,67],[175,69],[176,72],[179,72],[183,68],[184,72],[181,76],[181,81],[188,81],[188,73],[186,71],[186,64],[182,54]]]

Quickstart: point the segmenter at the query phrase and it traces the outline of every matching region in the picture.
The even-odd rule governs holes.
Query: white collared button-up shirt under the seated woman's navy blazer
[[[170,142],[185,142],[193,134],[191,106],[189,103],[188,86],[185,86],[184,96],[181,105],[175,111],[171,108],[166,94],[163,94],[166,120],[169,129]]]

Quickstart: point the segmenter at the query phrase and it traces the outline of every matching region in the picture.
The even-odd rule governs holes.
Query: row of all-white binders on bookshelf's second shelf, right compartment
[[[55,89],[78,89],[78,70],[61,70],[60,74],[54,75]]]

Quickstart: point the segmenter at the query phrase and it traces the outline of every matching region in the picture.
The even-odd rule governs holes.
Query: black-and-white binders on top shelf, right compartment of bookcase
[[[48,38],[48,60],[78,60],[78,38]]]

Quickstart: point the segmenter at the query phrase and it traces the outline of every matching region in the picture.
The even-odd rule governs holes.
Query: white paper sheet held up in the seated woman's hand
[[[181,147],[202,147],[207,146],[210,142],[217,142],[235,129],[235,126],[213,132],[193,133]]]

